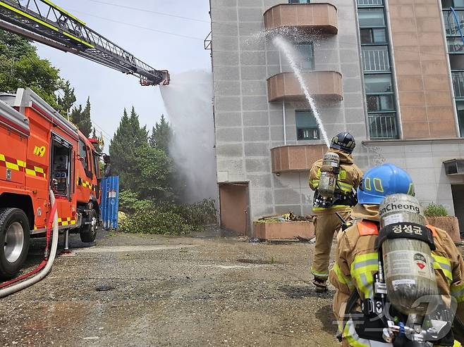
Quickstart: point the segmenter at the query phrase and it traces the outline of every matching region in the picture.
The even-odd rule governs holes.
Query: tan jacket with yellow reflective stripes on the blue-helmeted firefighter
[[[378,206],[358,204],[353,209],[353,217],[378,222]],[[361,234],[357,223],[338,237],[336,263],[329,274],[330,282],[336,288],[333,308],[338,322],[343,321],[346,303],[351,291],[358,290],[361,299],[372,298],[374,294],[374,273],[378,270],[378,253],[375,251],[377,235]],[[452,295],[456,298],[458,301],[456,315],[461,322],[464,322],[463,255],[444,230],[436,229],[434,241],[436,250],[432,251],[432,257],[434,258],[434,270],[439,291],[444,296]],[[360,312],[360,302],[355,305],[354,310]],[[342,327],[342,329],[344,341],[348,341],[349,346],[377,346],[365,343],[366,340],[355,339],[353,334],[348,334],[351,330],[347,327]]]

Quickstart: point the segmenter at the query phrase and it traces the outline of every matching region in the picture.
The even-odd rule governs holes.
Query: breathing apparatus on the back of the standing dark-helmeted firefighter
[[[358,202],[356,194],[351,191],[344,194],[338,185],[338,173],[340,172],[340,157],[337,153],[326,152],[322,158],[319,187],[314,195],[314,206],[330,208],[334,205],[355,206]]]

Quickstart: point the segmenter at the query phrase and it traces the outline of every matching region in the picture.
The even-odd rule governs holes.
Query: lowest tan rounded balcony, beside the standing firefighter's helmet
[[[326,151],[324,144],[275,147],[271,149],[272,172],[308,171]]]

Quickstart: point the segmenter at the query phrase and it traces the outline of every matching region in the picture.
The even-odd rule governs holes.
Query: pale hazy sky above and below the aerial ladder
[[[188,70],[211,70],[210,51],[205,51],[203,46],[210,31],[209,0],[53,2],[157,70],[169,70],[171,75]],[[92,121],[97,134],[103,130],[106,146],[118,127],[124,108],[130,111],[134,106],[140,123],[146,124],[149,130],[161,113],[166,114],[159,87],[142,87],[134,76],[42,44],[37,44],[37,53],[59,68],[61,77],[71,82],[77,104],[85,106],[87,96],[90,96]],[[176,83],[175,79],[171,83]]]

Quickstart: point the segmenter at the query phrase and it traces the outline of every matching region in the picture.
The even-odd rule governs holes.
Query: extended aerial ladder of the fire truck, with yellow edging
[[[142,86],[169,84],[155,70],[49,0],[0,0],[0,28],[140,78]]]

